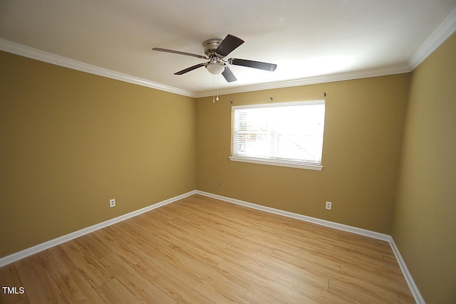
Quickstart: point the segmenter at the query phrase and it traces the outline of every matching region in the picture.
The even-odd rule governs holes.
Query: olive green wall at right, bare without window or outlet
[[[456,302],[456,34],[412,73],[392,236],[427,303]]]

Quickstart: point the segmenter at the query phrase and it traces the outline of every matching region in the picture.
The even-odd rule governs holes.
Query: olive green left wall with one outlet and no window
[[[0,257],[195,190],[195,98],[0,66]]]

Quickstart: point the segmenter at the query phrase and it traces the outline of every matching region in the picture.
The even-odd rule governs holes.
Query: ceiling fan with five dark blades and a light
[[[209,60],[206,63],[198,63],[197,65],[193,65],[190,68],[180,70],[179,72],[176,72],[175,75],[182,75],[190,72],[191,70],[195,70],[197,68],[201,68],[204,66],[207,68],[207,70],[209,70],[209,73],[212,73],[214,75],[222,73],[223,77],[227,80],[227,82],[231,83],[233,81],[236,81],[237,79],[236,77],[234,77],[232,71],[228,68],[227,63],[232,65],[247,66],[248,68],[259,68],[260,70],[276,70],[277,65],[273,63],[249,61],[246,59],[237,58],[224,59],[225,56],[234,51],[242,43],[244,43],[242,39],[232,35],[227,35],[224,39],[208,39],[207,41],[204,41],[202,43],[202,46],[204,47],[204,53],[206,54],[206,56],[181,51],[168,50],[166,48],[152,48],[152,50],[167,53],[175,53]]]

